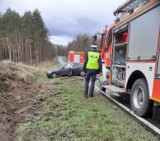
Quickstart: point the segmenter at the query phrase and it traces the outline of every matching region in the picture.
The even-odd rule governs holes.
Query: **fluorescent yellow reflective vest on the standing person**
[[[86,65],[87,69],[98,69],[99,64],[98,64],[98,59],[99,59],[99,53],[98,52],[88,52],[88,62]]]

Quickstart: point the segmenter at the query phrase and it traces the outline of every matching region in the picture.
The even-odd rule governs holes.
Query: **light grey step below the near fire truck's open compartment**
[[[103,85],[102,86],[103,88],[106,88],[112,92],[115,92],[115,93],[124,93],[126,92],[123,88],[119,88],[117,86],[114,86],[114,85]]]

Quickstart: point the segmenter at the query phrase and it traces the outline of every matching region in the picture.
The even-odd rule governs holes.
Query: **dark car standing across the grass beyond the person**
[[[48,78],[56,78],[61,76],[80,76],[83,72],[83,64],[81,63],[66,63],[65,65],[47,71]]]

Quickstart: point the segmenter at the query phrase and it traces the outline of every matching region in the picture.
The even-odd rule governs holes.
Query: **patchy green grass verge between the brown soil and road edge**
[[[23,141],[156,141],[126,113],[95,92],[85,99],[78,77],[46,80],[38,114],[19,127]],[[36,104],[36,103],[35,103]]]

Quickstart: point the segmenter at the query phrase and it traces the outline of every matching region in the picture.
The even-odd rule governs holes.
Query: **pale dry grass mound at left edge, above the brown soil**
[[[0,91],[8,91],[17,83],[31,83],[35,80],[34,67],[10,61],[0,62]]]

